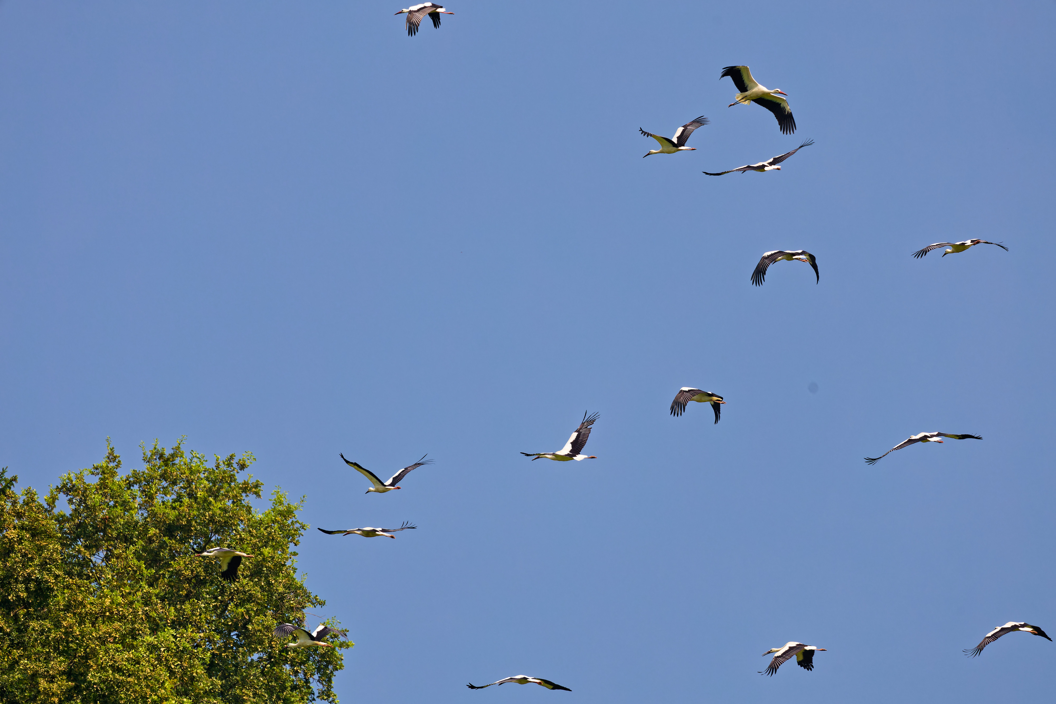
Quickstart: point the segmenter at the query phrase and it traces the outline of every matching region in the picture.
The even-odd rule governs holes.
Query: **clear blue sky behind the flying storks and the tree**
[[[1056,643],[961,650],[1056,633],[1053,3],[398,8],[0,5],[0,465],[253,452],[344,702],[1051,696]],[[862,460],[935,430],[985,439]],[[522,672],[573,691],[465,688]]]

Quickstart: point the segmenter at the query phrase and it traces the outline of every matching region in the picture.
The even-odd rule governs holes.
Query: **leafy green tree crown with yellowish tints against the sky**
[[[240,478],[252,461],[155,442],[122,475],[108,442],[43,501],[0,470],[0,701],[336,702],[353,644],[290,650],[271,634],[324,602],[295,569],[301,503],[277,489],[257,511],[263,484]],[[218,546],[254,555],[234,583],[194,556]]]

